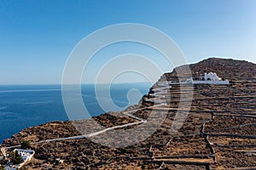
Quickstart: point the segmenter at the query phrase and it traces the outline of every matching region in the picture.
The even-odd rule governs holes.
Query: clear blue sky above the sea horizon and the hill
[[[256,63],[255,8],[253,0],[0,0],[0,84],[60,84],[68,56],[84,37],[122,23],[163,31],[188,63],[212,56]],[[102,66],[122,54],[144,55],[162,72],[173,69],[154,50],[124,42],[97,53],[82,82],[95,83]],[[119,61],[117,66],[132,63]],[[108,77],[108,71],[98,82],[148,80],[136,71],[117,77]],[[160,74],[154,74],[154,81]]]

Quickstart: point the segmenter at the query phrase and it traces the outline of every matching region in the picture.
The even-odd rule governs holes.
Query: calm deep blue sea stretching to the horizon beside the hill
[[[113,103],[119,107],[136,104],[143,94],[148,94],[149,82],[114,84],[110,86]],[[99,85],[101,90],[108,90],[108,85]],[[133,103],[127,99],[127,93],[136,88],[141,95],[134,95]],[[102,114],[97,98],[109,100],[106,96],[97,96],[95,86],[81,86],[84,105],[90,116]],[[103,100],[104,101],[104,100]],[[113,109],[113,110],[112,110]],[[117,110],[108,108],[109,111]],[[67,121],[68,117],[61,98],[61,85],[2,85],[0,86],[0,143],[23,128],[45,122]]]

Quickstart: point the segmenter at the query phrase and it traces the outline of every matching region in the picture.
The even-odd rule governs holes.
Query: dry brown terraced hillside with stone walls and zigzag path
[[[157,130],[137,144],[117,149],[86,138],[69,138],[81,135],[78,128],[86,129],[83,134],[102,130],[87,129],[90,120],[85,120],[77,122],[77,128],[71,122],[29,127],[6,139],[1,147],[9,152],[22,141],[29,141],[35,155],[22,167],[27,169],[256,169],[256,65],[234,59],[205,59],[189,65],[192,77],[212,71],[230,83],[162,85],[164,81],[177,81],[177,70],[183,71],[183,79],[189,78],[185,68],[164,74],[141,102],[127,111],[92,117],[103,127],[113,127],[93,138],[125,143],[128,137],[108,136],[143,123],[154,125],[154,120],[143,120],[164,114],[166,118]],[[189,102],[189,94],[191,106],[183,107]],[[184,122],[177,110],[187,114]],[[171,131],[178,122],[183,122],[182,126]],[[146,127],[142,126],[141,132]]]

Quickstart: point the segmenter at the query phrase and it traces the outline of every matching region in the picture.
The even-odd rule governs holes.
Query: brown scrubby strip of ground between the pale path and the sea
[[[137,122],[132,117],[120,113],[106,113],[95,116],[93,119],[103,127],[113,127],[129,122]],[[11,139],[4,141],[4,146],[21,144],[23,140],[38,142],[46,139],[59,139],[81,135],[81,133],[94,133],[102,127],[91,128],[92,120],[78,120],[75,122],[49,122],[36,127],[28,127],[20,133],[14,134]]]

